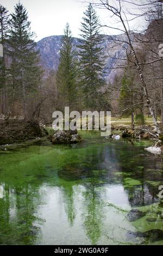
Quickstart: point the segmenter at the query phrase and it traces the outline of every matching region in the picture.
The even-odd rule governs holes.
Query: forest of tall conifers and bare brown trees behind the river
[[[61,38],[58,70],[45,75],[30,30],[28,11],[19,2],[9,14],[1,5],[1,118],[39,118],[52,121],[55,110],[111,110],[113,116],[131,116],[145,124],[151,115],[155,128],[163,120],[162,103],[162,1],[136,4],[139,14],[124,15],[122,3],[110,6],[107,1],[89,4],[81,21],[80,40],[73,42],[68,23]],[[130,3],[131,4],[131,3]],[[95,8],[104,8],[122,23],[121,34],[112,40],[125,54],[113,67],[105,63],[104,36]],[[143,17],[142,31],[130,31],[130,20]],[[160,47],[160,48],[159,48]],[[111,58],[112,48],[108,47]],[[108,57],[107,56],[107,57]],[[115,69],[112,83],[105,74]],[[150,75],[149,75],[150,74]]]

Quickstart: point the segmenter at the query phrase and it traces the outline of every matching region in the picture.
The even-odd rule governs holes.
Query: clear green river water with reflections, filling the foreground
[[[163,157],[145,142],[82,137],[0,151],[1,245],[163,245],[162,236],[134,235],[163,231]],[[131,209],[146,214],[129,222]]]

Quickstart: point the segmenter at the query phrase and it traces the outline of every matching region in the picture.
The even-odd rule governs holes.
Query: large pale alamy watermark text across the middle
[[[110,111],[78,111],[70,112],[69,107],[65,107],[65,113],[54,111],[52,127],[53,130],[101,130],[101,136],[109,136],[111,133],[111,112]]]

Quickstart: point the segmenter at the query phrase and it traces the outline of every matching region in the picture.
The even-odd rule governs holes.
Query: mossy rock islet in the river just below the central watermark
[[[50,137],[53,144],[71,144],[81,141],[77,131],[57,131]]]

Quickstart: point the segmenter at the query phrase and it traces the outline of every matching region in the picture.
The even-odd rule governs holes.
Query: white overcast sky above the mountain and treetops
[[[139,2],[140,0],[137,0]],[[6,7],[10,13],[14,11],[16,0],[1,0],[1,4]],[[31,21],[31,28],[37,35],[36,41],[50,35],[61,35],[66,22],[70,24],[72,35],[79,37],[80,22],[82,21],[83,11],[87,7],[87,3],[82,0],[21,0],[26,7]],[[108,11],[97,9],[97,14],[102,24],[115,23],[109,18]],[[140,22],[139,22],[140,23]],[[137,28],[138,23],[132,22],[132,28]],[[119,25],[117,25],[119,26]],[[104,28],[105,34],[117,34],[117,31]]]

